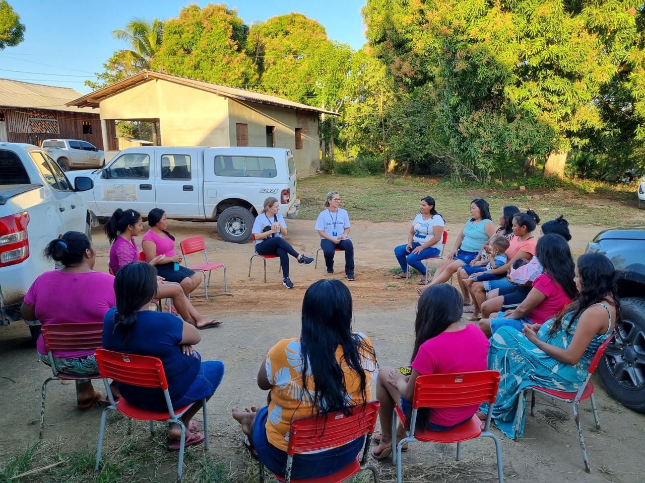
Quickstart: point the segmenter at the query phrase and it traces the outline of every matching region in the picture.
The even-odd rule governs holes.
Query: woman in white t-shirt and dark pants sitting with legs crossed
[[[313,263],[313,258],[298,253],[284,240],[286,236],[286,223],[280,214],[280,205],[277,198],[269,196],[264,200],[262,213],[255,218],[252,233],[255,235],[255,251],[259,255],[277,255],[280,257],[280,266],[283,271],[283,285],[293,289],[293,282],[289,278],[289,255],[301,265]]]

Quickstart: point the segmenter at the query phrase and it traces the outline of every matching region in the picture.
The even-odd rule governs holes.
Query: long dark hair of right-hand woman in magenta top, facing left
[[[569,298],[574,298],[578,289],[573,281],[575,271],[569,243],[555,233],[544,235],[537,240],[535,256],[542,264],[544,274],[559,283]]]

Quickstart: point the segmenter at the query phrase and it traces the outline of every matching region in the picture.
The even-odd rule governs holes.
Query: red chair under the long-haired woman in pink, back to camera
[[[457,443],[457,460],[461,453],[461,443],[469,439],[488,437],[495,442],[497,455],[497,475],[499,483],[504,483],[502,473],[502,449],[499,439],[489,431],[492,408],[497,399],[499,388],[499,372],[478,371],[463,372],[461,374],[427,374],[417,377],[412,397],[412,417],[407,436],[397,444],[398,421],[405,422],[405,415],[399,406],[394,408],[392,418],[392,464],[397,466],[397,482],[402,482],[401,450],[406,442],[424,441],[437,443]],[[467,422],[459,424],[448,431],[415,430],[417,412],[419,408],[459,408],[473,406],[474,404],[488,403],[488,414],[482,429],[482,422],[477,415],[473,415]],[[398,416],[398,420],[397,420]]]

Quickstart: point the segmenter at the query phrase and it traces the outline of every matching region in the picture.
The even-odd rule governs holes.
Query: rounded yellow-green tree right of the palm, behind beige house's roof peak
[[[172,75],[231,86],[257,82],[245,52],[249,28],[226,5],[190,5],[164,23],[163,44],[152,68]]]

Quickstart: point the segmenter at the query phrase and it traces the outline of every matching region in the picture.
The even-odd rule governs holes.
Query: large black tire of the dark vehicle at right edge
[[[620,299],[622,322],[614,330],[598,365],[600,379],[611,397],[645,413],[645,299]]]

